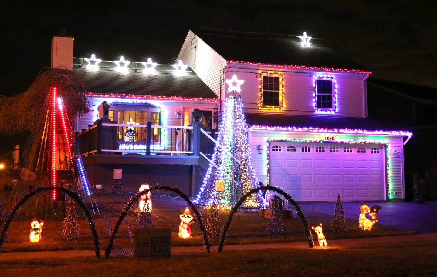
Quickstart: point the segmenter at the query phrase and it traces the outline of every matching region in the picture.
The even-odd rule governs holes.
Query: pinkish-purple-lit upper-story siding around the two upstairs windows
[[[238,68],[236,68],[238,66]],[[260,103],[260,72],[281,72],[284,75],[284,110],[269,111],[258,109]],[[241,85],[241,97],[246,113],[287,114],[306,116],[344,116],[365,117],[366,98],[363,92],[363,79],[367,75],[352,73],[328,73],[335,75],[337,82],[338,111],[335,114],[316,113],[313,109],[313,75],[326,74],[311,70],[272,70],[240,64],[229,64],[225,78],[230,79],[236,73],[238,79],[246,80]]]

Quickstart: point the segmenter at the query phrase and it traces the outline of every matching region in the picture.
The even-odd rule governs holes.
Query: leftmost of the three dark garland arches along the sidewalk
[[[88,222],[90,222],[91,235],[93,235],[93,240],[94,240],[94,251],[96,253],[96,257],[100,258],[99,234],[97,233],[96,226],[94,225],[94,221],[91,217],[90,211],[88,211],[87,207],[82,202],[82,200],[80,200],[80,197],[79,197],[79,195],[77,195],[76,192],[73,192],[73,191],[69,190],[68,188],[64,188],[64,187],[36,187],[35,189],[28,192],[28,194],[24,195],[20,199],[20,201],[18,201],[10,209],[10,211],[6,215],[6,221],[4,222],[3,226],[0,226],[0,249],[1,249],[1,246],[3,245],[4,235],[6,234],[7,229],[9,229],[9,224],[12,221],[12,219],[14,218],[14,215],[18,211],[18,209],[20,209],[20,207],[22,205],[24,205],[26,202],[29,201],[30,198],[34,197],[38,193],[44,192],[44,191],[52,191],[52,190],[64,192],[70,198],[73,198],[74,201],[76,201],[76,203],[83,210],[83,212],[85,212],[85,215],[87,216]]]

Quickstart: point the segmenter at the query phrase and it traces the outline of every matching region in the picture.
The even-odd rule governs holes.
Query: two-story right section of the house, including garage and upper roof
[[[310,44],[305,43],[310,42]],[[178,55],[215,93],[241,85],[258,179],[297,201],[402,199],[412,133],[368,118],[371,72],[306,34],[189,31]]]

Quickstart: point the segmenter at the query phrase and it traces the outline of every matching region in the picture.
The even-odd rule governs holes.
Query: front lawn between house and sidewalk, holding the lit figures
[[[100,214],[93,214],[93,219],[96,224],[97,232],[100,237],[101,247],[104,248],[108,244],[108,225],[105,223],[104,215],[108,214],[112,227],[117,220],[118,212],[128,202],[130,196],[112,196],[112,195],[97,195],[97,203],[100,206]],[[36,200],[35,200],[36,201]],[[8,231],[8,240],[2,246],[1,252],[25,252],[25,251],[44,251],[44,250],[83,250],[93,249],[93,242],[90,235],[88,222],[85,219],[80,220],[80,239],[77,241],[63,241],[62,230],[62,215],[56,217],[46,215],[44,230],[42,233],[43,241],[40,243],[29,243],[30,222],[33,218],[31,211],[35,210],[34,202],[28,202],[20,212],[20,215],[14,219]],[[180,239],[177,236],[179,226],[180,210],[186,207],[186,204],[181,199],[173,199],[168,197],[153,197],[153,227],[170,227],[173,229],[172,245],[173,246],[196,246],[201,245],[201,232],[197,228],[197,222],[192,225],[192,239]],[[41,203],[41,202],[40,202]],[[207,209],[200,209],[202,218],[206,223],[208,215]],[[25,215],[28,214],[28,215]],[[41,212],[38,212],[40,215]],[[78,214],[80,211],[78,210]],[[219,212],[221,224],[223,225],[228,217],[229,212]],[[360,238],[371,236],[392,236],[400,234],[411,234],[410,231],[394,229],[381,224],[375,225],[371,232],[361,231],[357,229],[358,219],[356,221],[347,221],[349,232],[333,233],[329,226],[331,224],[332,215],[322,213],[306,212],[305,216],[311,225],[319,225],[323,223],[325,227],[323,233],[328,240],[343,239],[343,238]],[[127,233],[127,222],[131,223],[132,235],[136,226],[136,215],[134,212],[129,213],[125,222],[121,224],[119,233],[116,236],[117,247],[133,247]],[[382,220],[380,220],[381,222]],[[250,244],[250,243],[280,243],[304,241],[305,236],[301,222],[298,218],[283,219],[284,236],[270,237],[267,235],[268,219],[259,216],[258,211],[253,212],[238,212],[228,232],[227,244]],[[212,245],[218,245],[218,239],[212,239]],[[215,248],[215,246],[214,246]]]

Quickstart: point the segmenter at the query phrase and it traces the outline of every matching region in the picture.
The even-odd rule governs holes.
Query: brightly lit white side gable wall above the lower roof
[[[221,77],[226,66],[224,58],[189,31],[177,59],[189,65],[215,95],[220,97]]]

